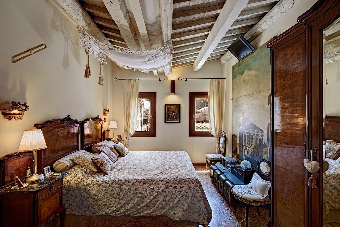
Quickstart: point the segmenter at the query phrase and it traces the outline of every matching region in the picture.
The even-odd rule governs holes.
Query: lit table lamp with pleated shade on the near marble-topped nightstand
[[[36,168],[36,152],[37,150],[47,148],[43,132],[40,129],[25,130],[23,132],[18,151],[34,151],[34,173],[26,178],[27,183],[33,183],[44,179],[44,175],[37,174]]]

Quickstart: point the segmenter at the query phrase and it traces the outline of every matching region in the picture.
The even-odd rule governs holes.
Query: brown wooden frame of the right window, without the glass
[[[210,131],[195,131],[195,99],[208,98],[207,91],[189,92],[189,136],[212,136]]]

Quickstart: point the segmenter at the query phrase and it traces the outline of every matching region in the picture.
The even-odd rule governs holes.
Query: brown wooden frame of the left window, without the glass
[[[156,112],[157,112],[157,93],[156,92],[139,92],[138,93],[138,99],[150,99],[151,102],[151,108],[150,108],[150,114],[152,116],[151,118],[151,128],[150,131],[147,132],[141,132],[141,131],[135,131],[134,134],[132,134],[131,137],[156,137]]]

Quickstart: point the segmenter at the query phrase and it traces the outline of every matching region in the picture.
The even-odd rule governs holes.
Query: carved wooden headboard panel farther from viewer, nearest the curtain
[[[97,116],[86,118],[81,125],[81,149],[91,152],[92,145],[103,141],[103,120]]]

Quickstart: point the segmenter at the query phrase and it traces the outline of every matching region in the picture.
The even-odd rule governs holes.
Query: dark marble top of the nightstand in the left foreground
[[[8,187],[0,189],[0,194],[31,193],[34,191],[40,191],[48,187],[50,184],[56,182],[57,180],[65,177],[67,174],[68,172],[54,172],[54,173],[51,173],[50,175],[45,176],[44,180],[30,183],[30,184],[27,184],[24,180],[22,180],[22,184],[24,185],[24,187],[17,188],[16,184],[12,184]]]

